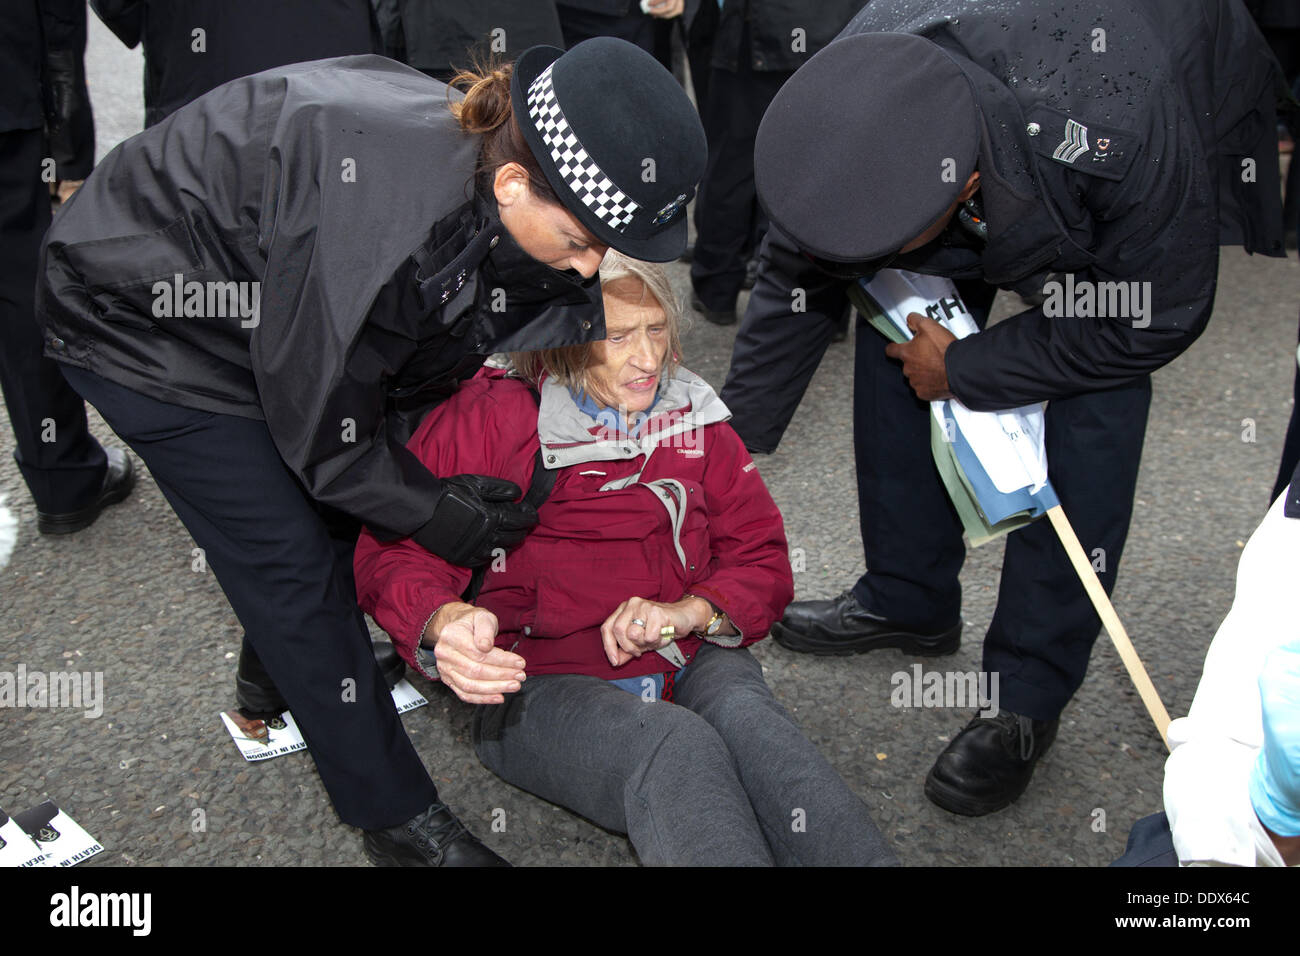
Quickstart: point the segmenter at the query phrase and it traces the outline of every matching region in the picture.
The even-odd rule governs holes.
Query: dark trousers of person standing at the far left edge
[[[86,425],[86,405],[44,358],[35,290],[40,239],[49,228],[40,130],[0,133],[0,386],[16,440],[14,460],[36,509],[90,505],[108,460]]]

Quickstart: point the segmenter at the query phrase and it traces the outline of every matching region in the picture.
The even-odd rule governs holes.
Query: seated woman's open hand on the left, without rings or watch
[[[442,605],[424,628],[438,676],[467,704],[503,704],[525,680],[524,658],[493,644],[497,615],[460,601]]]

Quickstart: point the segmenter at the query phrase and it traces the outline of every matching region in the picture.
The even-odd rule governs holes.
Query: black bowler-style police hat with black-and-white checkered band
[[[564,208],[595,238],[654,263],[686,248],[686,203],[705,174],[699,116],[672,74],[611,36],[515,62],[519,127]]]

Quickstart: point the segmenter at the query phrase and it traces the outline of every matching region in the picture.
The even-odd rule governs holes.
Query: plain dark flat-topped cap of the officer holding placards
[[[975,169],[980,122],[966,75],[930,40],[837,39],[763,116],[754,146],[759,202],[814,256],[890,255],[957,200]]]

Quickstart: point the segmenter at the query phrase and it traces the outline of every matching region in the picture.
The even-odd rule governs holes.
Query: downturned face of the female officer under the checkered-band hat
[[[597,273],[608,246],[563,206],[538,199],[523,166],[507,163],[498,169],[494,189],[502,225],[528,255],[560,272],[573,269],[586,278]]]

